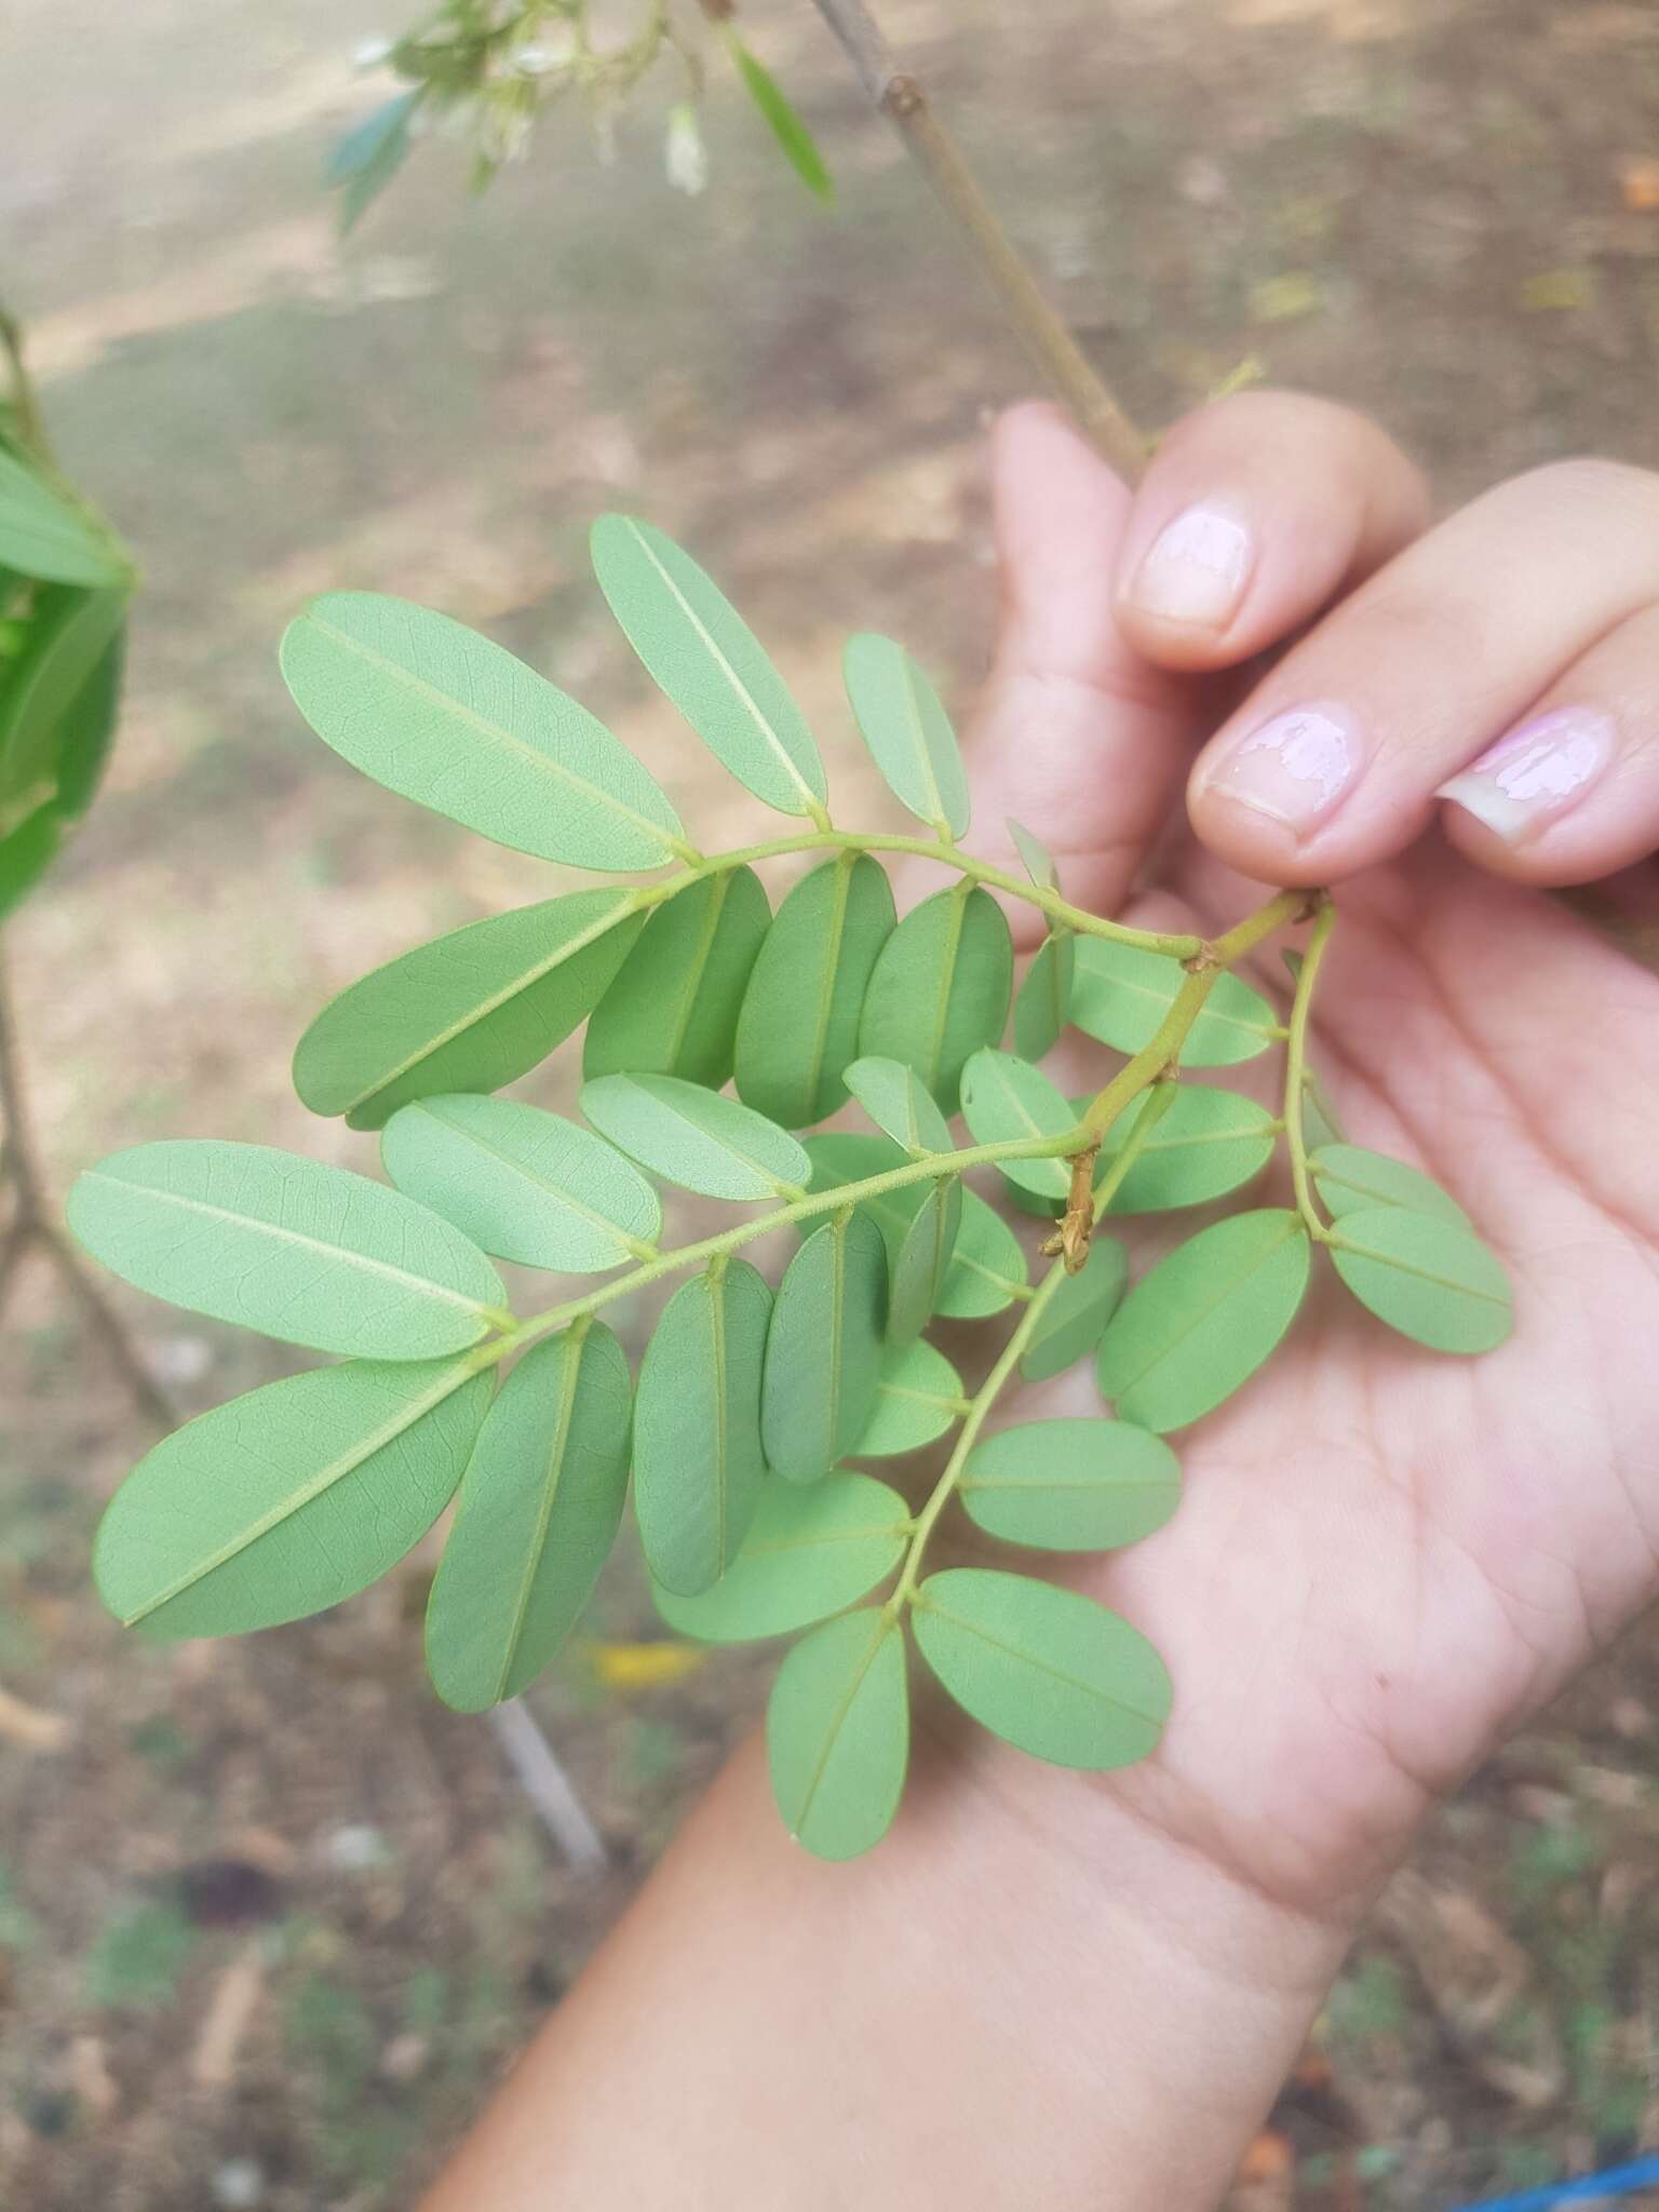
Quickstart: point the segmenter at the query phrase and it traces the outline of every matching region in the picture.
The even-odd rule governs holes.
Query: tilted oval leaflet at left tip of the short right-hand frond
[[[1263,1208],[1168,1252],[1106,1323],[1099,1387],[1124,1420],[1183,1429],[1274,1352],[1307,1290],[1307,1230]]]

